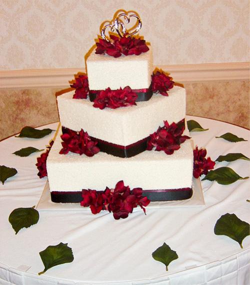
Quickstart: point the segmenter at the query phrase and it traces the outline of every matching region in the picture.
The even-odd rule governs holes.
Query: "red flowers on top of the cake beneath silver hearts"
[[[126,34],[122,37],[110,35],[112,42],[99,38],[99,42],[96,42],[96,54],[108,54],[113,57],[119,57],[124,55],[139,55],[142,52],[149,50],[144,39],[136,38]]]

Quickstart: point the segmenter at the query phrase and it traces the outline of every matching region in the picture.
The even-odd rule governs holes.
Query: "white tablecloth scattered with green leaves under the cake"
[[[203,132],[191,132],[194,144],[205,147],[215,160],[218,155],[241,152],[249,157],[246,129],[200,117],[195,119]],[[57,124],[48,125],[53,129]],[[43,127],[41,127],[43,128]],[[228,142],[215,138],[232,132],[248,141]],[[0,283],[1,284],[247,284],[249,282],[250,237],[239,244],[224,235],[215,235],[216,220],[227,212],[250,222],[250,179],[230,185],[202,181],[205,206],[147,209],[126,219],[114,220],[111,213],[89,211],[40,211],[37,224],[17,235],[8,222],[17,207],[35,205],[46,178],[39,179],[36,156],[19,157],[12,152],[27,146],[44,148],[53,134],[41,139],[10,137],[0,142],[0,165],[15,167],[18,173],[0,185]],[[240,176],[249,175],[249,161],[217,162]],[[167,174],[167,169],[166,169]],[[96,177],[98,178],[98,177]],[[48,245],[68,243],[74,260],[37,272],[44,266],[39,251]],[[166,242],[178,259],[165,266],[151,253]]]

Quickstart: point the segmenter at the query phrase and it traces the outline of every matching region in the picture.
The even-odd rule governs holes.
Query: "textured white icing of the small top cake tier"
[[[130,86],[132,89],[148,88],[151,83],[152,50],[140,55],[112,57],[95,54],[93,50],[86,59],[86,69],[90,90],[107,87],[118,89]]]

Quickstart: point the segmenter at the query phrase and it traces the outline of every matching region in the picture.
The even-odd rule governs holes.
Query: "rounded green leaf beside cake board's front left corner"
[[[34,206],[32,208],[16,208],[9,217],[8,221],[11,223],[15,234],[23,227],[29,227],[37,223],[39,220],[39,213]]]

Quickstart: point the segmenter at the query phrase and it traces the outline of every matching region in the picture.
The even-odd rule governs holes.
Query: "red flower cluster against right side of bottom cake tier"
[[[196,146],[193,149],[193,177],[198,178],[201,174],[207,174],[209,169],[213,169],[215,162],[210,157],[205,158],[206,149]]]

